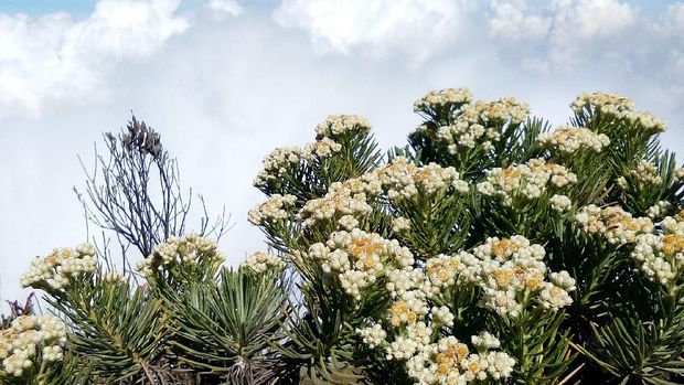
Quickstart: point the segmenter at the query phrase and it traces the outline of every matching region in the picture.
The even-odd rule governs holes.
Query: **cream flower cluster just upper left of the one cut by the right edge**
[[[597,207],[591,204],[583,207],[575,221],[585,233],[605,236],[613,245],[634,242],[637,235],[653,231],[651,218],[633,218],[619,206]]]

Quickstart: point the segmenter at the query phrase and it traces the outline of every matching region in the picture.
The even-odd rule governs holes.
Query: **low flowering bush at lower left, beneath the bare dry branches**
[[[32,263],[22,284],[42,289],[60,317],[21,316],[0,330],[0,384],[274,377],[264,351],[281,338],[280,258],[256,253],[228,269],[216,243],[195,234],[157,245],[137,275],[108,271],[95,254],[83,244]]]

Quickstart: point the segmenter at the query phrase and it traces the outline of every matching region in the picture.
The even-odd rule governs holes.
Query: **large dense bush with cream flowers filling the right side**
[[[684,169],[630,99],[570,107],[443,89],[385,156],[350,116],[306,146],[335,157],[276,150],[307,154],[265,160],[250,212],[300,280],[281,351],[338,384],[683,381]]]

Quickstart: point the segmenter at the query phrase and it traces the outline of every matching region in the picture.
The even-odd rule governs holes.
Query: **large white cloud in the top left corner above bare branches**
[[[85,20],[0,13],[0,115],[106,99],[119,62],[154,54],[189,21],[179,0],[100,0]]]

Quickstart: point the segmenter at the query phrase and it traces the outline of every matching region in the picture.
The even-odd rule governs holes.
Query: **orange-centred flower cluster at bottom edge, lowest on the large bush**
[[[472,381],[501,379],[513,372],[515,360],[503,352],[489,351],[499,346],[499,340],[482,332],[472,336],[477,353],[453,335],[437,343],[424,345],[406,362],[408,374],[419,385],[464,384]],[[477,343],[475,343],[477,342]]]

